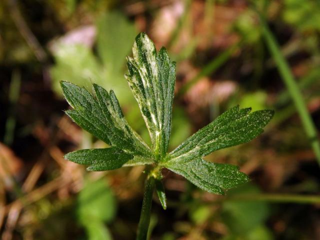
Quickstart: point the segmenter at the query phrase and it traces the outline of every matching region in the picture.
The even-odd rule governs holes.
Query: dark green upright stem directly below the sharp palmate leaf
[[[144,184],[143,202],[142,202],[136,240],[145,240],[147,237],[147,232],[148,232],[149,223],[150,223],[153,189],[154,189],[154,178],[148,175]]]

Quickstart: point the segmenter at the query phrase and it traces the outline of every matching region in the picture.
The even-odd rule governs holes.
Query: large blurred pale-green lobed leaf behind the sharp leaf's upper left
[[[112,88],[122,103],[131,102],[128,85],[123,81],[125,55],[134,40],[135,28],[120,12],[102,14],[96,23],[97,53],[88,46],[56,43],[51,68],[52,89],[61,94],[59,81],[69,81],[91,89],[91,82]]]

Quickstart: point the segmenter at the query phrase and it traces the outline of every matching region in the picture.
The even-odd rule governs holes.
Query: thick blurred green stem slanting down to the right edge
[[[288,63],[281,54],[278,43],[276,42],[274,36],[272,35],[269,27],[266,25],[261,15],[260,21],[262,25],[262,34],[265,39],[265,42],[272,54],[272,57],[277,65],[277,68],[286,85],[286,88],[294,102],[295,108],[300,115],[303,128],[306,132],[307,137],[309,138],[309,141],[311,142],[314,155],[318,161],[318,164],[320,165],[320,142],[317,137],[317,131],[312,121],[312,118],[305,106],[302,94],[299,90],[296,81],[294,80],[293,74],[289,68]]]

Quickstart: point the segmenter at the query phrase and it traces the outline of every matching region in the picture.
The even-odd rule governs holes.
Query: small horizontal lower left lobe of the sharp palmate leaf
[[[64,158],[75,163],[89,165],[89,171],[105,171],[121,167],[133,155],[117,147],[82,149],[64,155]]]

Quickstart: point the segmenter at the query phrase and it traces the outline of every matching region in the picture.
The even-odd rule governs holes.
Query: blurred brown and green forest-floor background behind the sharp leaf
[[[63,159],[104,143],[62,109],[59,80],[112,88],[150,143],[123,74],[137,32],[177,61],[169,149],[236,104],[275,115],[250,143],[205,157],[232,163],[247,185],[217,196],[163,171],[152,239],[319,239],[319,166],[283,83],[258,12],[320,127],[320,5],[314,0],[0,1],[2,239],[132,239],[143,168],[105,172]],[[315,137],[318,138],[318,137]]]

